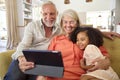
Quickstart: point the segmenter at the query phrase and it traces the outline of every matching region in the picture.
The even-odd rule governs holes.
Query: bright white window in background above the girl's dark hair
[[[87,12],[86,14],[86,23],[93,24],[94,28],[99,28],[100,30],[108,31],[110,24],[110,11],[95,11],[95,12]]]

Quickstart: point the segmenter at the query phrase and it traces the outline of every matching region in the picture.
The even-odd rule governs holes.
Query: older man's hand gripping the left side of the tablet
[[[24,72],[27,69],[31,69],[31,68],[34,67],[34,63],[33,62],[27,62],[24,56],[18,57],[18,61],[19,61],[19,68],[22,72]]]

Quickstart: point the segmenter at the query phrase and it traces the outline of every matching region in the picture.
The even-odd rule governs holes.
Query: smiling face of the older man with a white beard
[[[53,5],[47,4],[42,8],[42,20],[47,27],[53,27],[57,18],[57,11]]]

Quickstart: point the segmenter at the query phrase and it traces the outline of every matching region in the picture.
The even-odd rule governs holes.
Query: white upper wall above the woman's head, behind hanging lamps
[[[69,8],[74,9],[77,12],[87,12],[111,10],[115,7],[115,0],[93,0],[89,3],[86,3],[85,0],[70,0],[70,4],[64,4],[64,0],[51,1],[56,4],[60,13]]]

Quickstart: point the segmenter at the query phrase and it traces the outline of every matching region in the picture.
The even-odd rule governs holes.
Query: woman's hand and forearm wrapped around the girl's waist
[[[94,71],[94,70],[97,70],[97,69],[106,70],[110,66],[110,60],[109,60],[108,57],[105,57],[105,59],[98,59],[95,62],[97,62],[97,64],[93,68],[88,69],[88,71]]]

